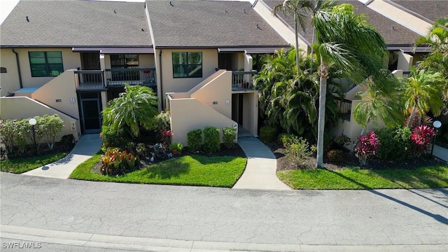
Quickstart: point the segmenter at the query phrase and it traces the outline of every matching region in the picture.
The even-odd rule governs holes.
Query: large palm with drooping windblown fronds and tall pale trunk
[[[323,168],[325,99],[330,64],[337,66],[355,83],[370,77],[370,85],[377,90],[391,90],[393,87],[386,87],[380,81],[386,78],[381,71],[384,68],[386,43],[364,15],[353,13],[353,6],[342,4],[318,10],[314,15],[314,28],[318,44],[313,46],[321,60],[318,67],[320,87],[316,167]]]

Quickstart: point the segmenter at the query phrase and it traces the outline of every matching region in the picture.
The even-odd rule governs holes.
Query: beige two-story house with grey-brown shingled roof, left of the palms
[[[257,134],[253,69],[289,47],[251,3],[232,1],[20,1],[0,29],[2,118],[46,111],[70,118],[65,134],[97,133],[124,83],[146,85],[183,144],[207,125]]]

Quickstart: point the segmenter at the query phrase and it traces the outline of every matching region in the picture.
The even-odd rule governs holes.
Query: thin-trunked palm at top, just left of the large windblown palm
[[[276,15],[281,12],[284,15],[294,16],[294,31],[295,31],[295,48],[299,48],[299,25],[301,29],[305,29],[307,9],[311,7],[310,1],[306,0],[285,0],[279,3],[272,9],[272,13]],[[297,76],[299,75],[299,50],[295,50],[295,64],[297,65]]]

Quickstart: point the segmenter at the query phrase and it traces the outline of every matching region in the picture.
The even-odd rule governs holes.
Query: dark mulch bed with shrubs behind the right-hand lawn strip
[[[281,144],[271,143],[267,144],[277,159],[277,171],[286,171],[293,169],[314,169],[316,167],[316,156],[308,157],[303,160],[300,165],[294,165],[286,158],[286,150]],[[323,158],[323,165],[325,169],[336,171],[343,167],[359,167],[358,158],[351,153],[344,152],[344,158],[341,162],[331,162],[328,158]],[[384,162],[380,160],[369,160],[365,169],[395,169],[400,167],[402,169],[417,169],[419,167],[428,167],[433,165],[448,165],[447,162],[438,158],[407,158],[402,161]]]

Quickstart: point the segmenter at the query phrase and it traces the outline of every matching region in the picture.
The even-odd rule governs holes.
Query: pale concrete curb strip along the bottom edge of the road
[[[307,244],[253,244],[216,241],[183,241],[146,237],[122,237],[81,232],[66,232],[0,225],[0,237],[49,244],[91,248],[123,249],[126,251],[447,251],[448,244],[414,245],[307,245]]]

